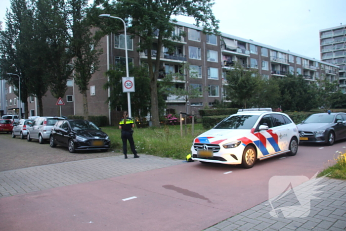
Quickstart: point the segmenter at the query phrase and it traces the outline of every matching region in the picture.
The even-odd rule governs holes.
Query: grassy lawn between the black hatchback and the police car
[[[193,136],[191,130],[192,126],[187,125],[185,136],[185,126],[183,125],[183,137],[181,137],[179,125],[165,125],[161,128],[135,128],[133,139],[139,154],[185,159],[186,155],[191,153],[193,139],[206,131],[202,128],[202,124],[195,124]],[[102,131],[110,137],[112,148],[116,152],[122,153],[123,144],[120,129],[118,127],[103,127]],[[129,144],[128,150],[130,150]]]

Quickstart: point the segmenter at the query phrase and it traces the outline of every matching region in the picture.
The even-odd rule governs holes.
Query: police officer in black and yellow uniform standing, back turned
[[[127,140],[130,142],[130,147],[131,151],[134,154],[133,158],[139,158],[139,155],[137,155],[136,148],[134,146],[134,141],[133,141],[133,130],[134,128],[134,123],[131,118],[128,117],[128,112],[124,111],[124,119],[122,119],[119,123],[119,129],[121,129],[121,139],[123,140],[123,152],[125,155],[125,159],[128,158],[128,143]]]

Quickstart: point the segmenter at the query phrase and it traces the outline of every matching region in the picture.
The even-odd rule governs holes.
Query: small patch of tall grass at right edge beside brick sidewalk
[[[338,156],[335,157],[336,164],[323,170],[318,177],[327,177],[346,180],[346,151],[339,152]]]

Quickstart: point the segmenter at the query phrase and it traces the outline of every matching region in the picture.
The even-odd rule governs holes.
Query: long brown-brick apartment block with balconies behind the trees
[[[177,35],[182,31],[186,36],[173,41],[173,52],[162,47],[160,53],[152,50],[152,56],[155,58],[160,55],[159,81],[171,73],[175,76],[173,78],[175,88],[197,89],[200,91],[200,97],[186,102],[177,95],[169,95],[166,102],[167,111],[170,113],[177,114],[181,111],[198,114],[198,110],[206,106],[213,107],[215,100],[222,101],[225,94],[224,86],[227,85],[224,77],[227,71],[234,69],[236,62],[245,68],[258,70],[263,78],[285,78],[287,74],[294,74],[303,75],[309,83],[319,79],[339,80],[339,66],[329,62],[225,33],[221,33],[220,36],[205,35],[202,33],[202,28],[177,22],[173,33]],[[136,50],[136,44],[139,42],[138,37],[132,39],[130,35],[127,36],[130,65],[146,65],[148,62],[147,51],[137,52]],[[92,76],[87,92],[89,115],[106,115],[110,123],[116,124],[112,119],[113,112],[106,103],[110,90],[103,89],[107,82],[104,72],[118,63],[125,64],[125,35],[111,33],[102,38],[100,46],[103,49],[103,54],[100,55],[100,68]],[[153,47],[156,47],[155,41]],[[185,64],[189,65],[189,70],[182,70],[181,67]],[[73,80],[71,80],[70,92],[73,106],[68,113],[83,115],[83,98],[78,91],[78,86],[73,84]],[[46,103],[55,105],[56,99],[54,100],[53,102],[46,100],[43,109],[46,110]],[[30,99],[30,102],[34,103],[35,99]],[[127,110],[127,108],[122,109]],[[33,110],[32,113],[35,114],[37,107],[30,110]],[[63,114],[70,115],[68,113]]]

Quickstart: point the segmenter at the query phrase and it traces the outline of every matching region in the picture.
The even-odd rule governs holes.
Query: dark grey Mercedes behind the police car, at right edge
[[[300,143],[315,142],[333,145],[346,139],[346,113],[317,113],[297,125]]]

